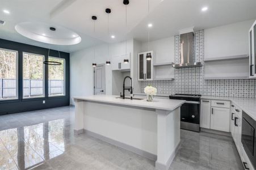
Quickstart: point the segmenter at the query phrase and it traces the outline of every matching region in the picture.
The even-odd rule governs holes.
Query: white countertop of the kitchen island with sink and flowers
[[[166,111],[174,111],[180,107],[185,100],[170,100],[170,99],[158,99],[154,98],[152,102],[143,100],[130,100],[130,99],[118,99],[114,95],[94,95],[94,96],[85,96],[85,97],[73,97],[77,100],[86,100],[86,101],[96,101],[100,103],[109,103],[109,104],[120,104],[133,107],[141,108],[152,108],[152,109],[162,109]],[[143,97],[144,98],[144,97]]]

